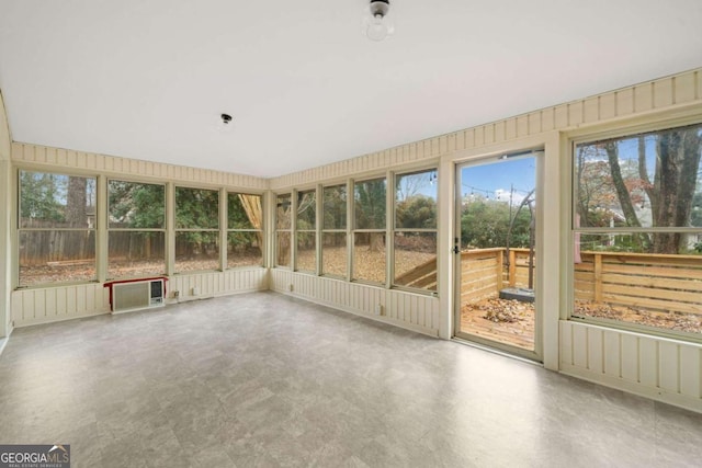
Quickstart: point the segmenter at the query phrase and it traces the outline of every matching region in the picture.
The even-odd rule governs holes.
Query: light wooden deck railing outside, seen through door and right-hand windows
[[[576,300],[702,313],[702,255],[584,251],[580,256],[574,275]],[[536,260],[534,255],[534,265]],[[435,288],[437,260],[418,265],[396,283]],[[529,287],[529,249],[461,252],[461,304],[497,297],[506,287]]]

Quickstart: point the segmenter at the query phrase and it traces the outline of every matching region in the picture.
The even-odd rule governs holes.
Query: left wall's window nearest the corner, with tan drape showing
[[[262,266],[261,195],[227,194],[227,267]]]

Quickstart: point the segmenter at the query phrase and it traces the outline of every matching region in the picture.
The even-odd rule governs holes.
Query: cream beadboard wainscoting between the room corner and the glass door
[[[360,283],[271,270],[271,289],[431,336],[439,335],[439,299]],[[380,306],[380,309],[378,309]],[[380,312],[380,313],[378,313]]]

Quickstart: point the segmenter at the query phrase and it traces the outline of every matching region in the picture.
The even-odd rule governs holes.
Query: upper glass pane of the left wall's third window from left
[[[176,187],[176,227],[216,229],[219,227],[219,192]]]

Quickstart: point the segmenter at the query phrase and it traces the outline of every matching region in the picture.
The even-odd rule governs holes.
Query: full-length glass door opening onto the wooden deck
[[[455,335],[539,359],[536,164],[541,151],[456,168]]]

